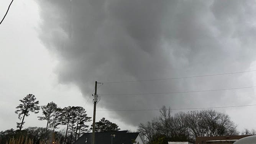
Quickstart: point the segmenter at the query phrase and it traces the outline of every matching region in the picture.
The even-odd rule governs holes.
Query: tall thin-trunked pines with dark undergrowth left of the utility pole
[[[89,125],[86,123],[91,121],[91,117],[87,116],[85,109],[81,106],[60,108],[53,101],[47,105],[39,106],[39,101],[33,94],[26,95],[20,102],[15,111],[20,119],[20,122],[16,123],[18,130],[1,131],[1,144],[5,144],[6,140],[12,137],[18,138],[19,136],[28,136],[30,139],[34,139],[35,144],[39,144],[39,139],[48,141],[53,133],[61,144],[72,144],[82,134],[90,131]],[[25,117],[29,116],[30,113],[39,113],[40,109],[42,115],[38,116],[38,120],[46,121],[46,128],[29,127],[22,130]],[[65,131],[56,132],[59,125],[66,126]]]

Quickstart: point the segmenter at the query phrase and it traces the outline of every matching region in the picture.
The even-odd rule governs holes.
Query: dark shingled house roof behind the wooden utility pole
[[[113,144],[132,144],[132,139],[136,139],[139,133],[128,133],[128,131],[113,131],[113,132],[99,132],[95,133],[95,144],[111,143],[112,134]],[[91,144],[92,133],[85,133],[74,144]]]

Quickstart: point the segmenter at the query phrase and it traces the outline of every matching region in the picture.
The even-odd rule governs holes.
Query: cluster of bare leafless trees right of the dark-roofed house
[[[163,106],[160,116],[139,124],[147,144],[167,144],[167,141],[194,142],[197,136],[238,135],[237,125],[230,116],[215,110],[179,112],[171,115],[171,108]]]

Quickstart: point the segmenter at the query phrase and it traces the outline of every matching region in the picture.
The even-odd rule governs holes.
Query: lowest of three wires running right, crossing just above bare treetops
[[[197,109],[213,109],[213,108],[234,108],[244,106],[256,106],[254,105],[238,105],[238,106],[218,106],[218,107],[207,107],[207,108],[172,108],[171,110],[197,110]],[[97,111],[156,111],[160,109],[133,109],[133,110],[97,110]]]

